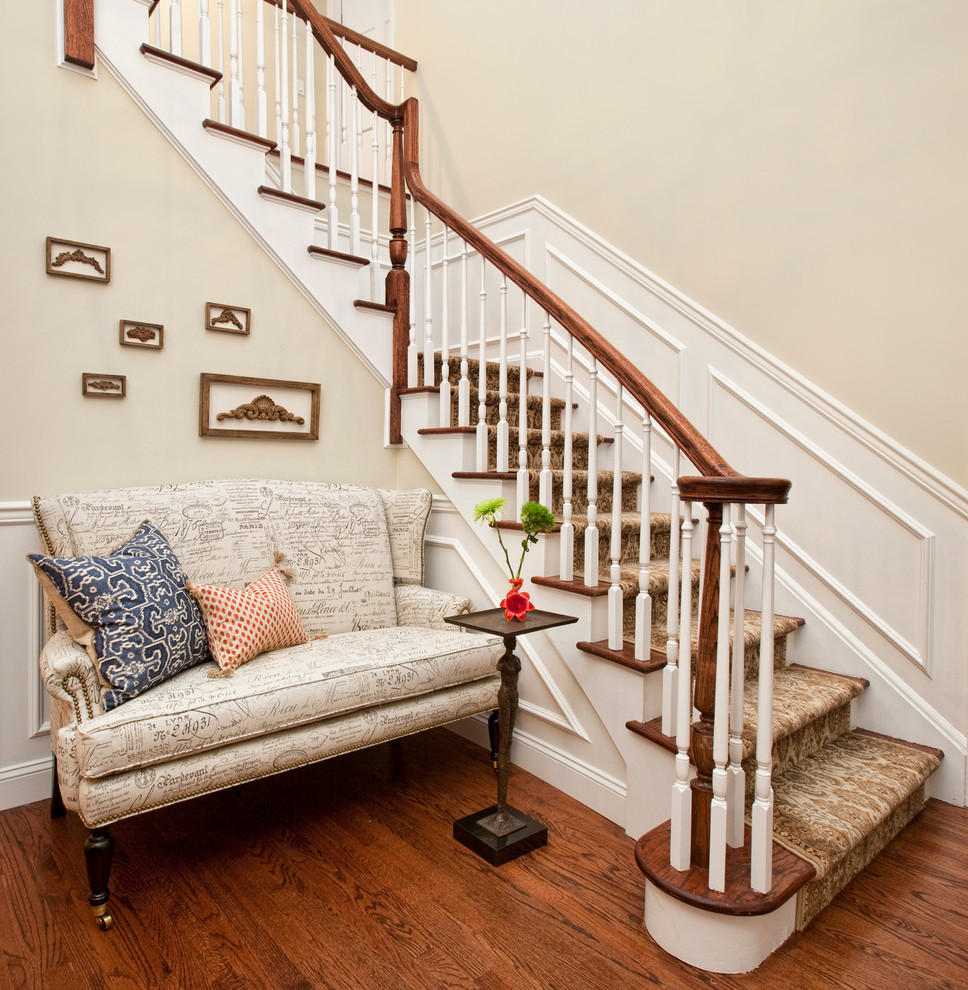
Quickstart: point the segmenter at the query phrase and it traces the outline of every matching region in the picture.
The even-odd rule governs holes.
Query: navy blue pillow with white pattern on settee
[[[27,559],[108,688],[105,711],[209,659],[205,620],[185,573],[148,520],[103,557]]]

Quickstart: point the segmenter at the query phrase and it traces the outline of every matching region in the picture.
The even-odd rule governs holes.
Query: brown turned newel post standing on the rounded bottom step
[[[716,651],[719,633],[719,557],[723,507],[718,502],[706,506],[706,554],[703,560],[702,601],[699,605],[699,649],[693,704],[699,721],[692,726],[692,758],[696,776],[692,789],[693,866],[709,865],[710,810],[713,800],[713,722],[716,711]],[[688,656],[688,654],[686,654]]]

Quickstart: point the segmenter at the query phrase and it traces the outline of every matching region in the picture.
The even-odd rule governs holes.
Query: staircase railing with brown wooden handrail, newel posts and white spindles
[[[197,6],[196,6],[197,4]],[[224,4],[224,9],[223,9]],[[154,41],[182,55],[183,4],[167,0],[152,5]],[[217,9],[216,9],[217,8]],[[434,390],[440,395],[439,426],[452,424],[472,429],[471,396],[478,392],[477,467],[488,468],[491,434],[485,423],[488,399],[486,366],[500,365],[497,389],[497,423],[493,427],[497,470],[510,473],[508,348],[520,319],[518,465],[519,502],[531,495],[528,468],[529,364],[542,372],[540,407],[541,469],[537,495],[551,507],[552,434],[561,433],[564,450],[560,491],[561,563],[559,577],[576,588],[599,586],[600,529],[610,534],[608,561],[608,649],[634,660],[648,661],[661,655],[663,667],[662,732],[674,737],[677,750],[676,781],[671,803],[670,862],[677,870],[708,869],[708,886],[725,889],[727,848],[745,841],[745,772],[742,767],[744,655],[747,590],[759,584],[760,640],[758,662],[758,714],[756,771],[751,808],[752,868],[749,886],[766,894],[772,887],[772,670],[774,510],[785,503],[789,481],[745,477],[736,472],[712,444],[693,426],[656,385],[606,340],[583,317],[562,301],[505,250],[458,215],[424,184],[419,165],[419,108],[416,99],[404,97],[404,72],[416,63],[383,46],[374,45],[327,20],[308,0],[192,0],[197,16],[197,49],[194,57],[223,74],[216,95],[218,121],[223,127],[254,131],[274,143],[279,159],[279,183],[285,193],[298,192],[316,199],[317,171],[328,179],[329,247],[341,244],[339,218],[348,214],[348,252],[361,253],[360,185],[370,190],[370,262],[376,286],[380,265],[380,232],[389,235],[389,271],[385,303],[394,311],[393,381],[391,386],[391,439],[400,441],[400,398],[409,389]],[[162,20],[164,13],[165,19]],[[214,15],[215,30],[212,30]],[[274,44],[266,44],[267,32]],[[195,44],[195,32],[192,44]],[[342,37],[340,41],[339,34]],[[214,37],[213,37],[214,35]],[[227,40],[227,52],[226,42]],[[243,43],[243,39],[248,39]],[[250,44],[254,41],[254,44]],[[246,61],[246,52],[250,61]],[[184,57],[192,57],[184,53]],[[254,58],[254,61],[252,60]],[[317,66],[323,65],[320,73]],[[267,78],[274,74],[274,83]],[[319,80],[325,79],[324,85]],[[227,80],[227,82],[226,82]],[[318,99],[320,90],[325,97]],[[383,95],[379,91],[382,90]],[[274,139],[269,140],[268,95],[274,101]],[[325,109],[320,109],[325,108]],[[254,114],[254,119],[253,119]],[[322,123],[321,123],[322,121]],[[324,140],[317,139],[324,134]],[[364,155],[364,133],[370,141]],[[325,149],[317,155],[317,146]],[[365,162],[364,159],[368,159]],[[301,171],[301,180],[299,172]],[[337,179],[348,186],[348,203]],[[365,176],[365,178],[364,178]],[[300,185],[301,182],[301,185]],[[294,186],[296,188],[294,188]],[[409,194],[409,196],[408,196]],[[423,271],[411,270],[417,256],[416,208],[424,211]],[[323,204],[318,203],[320,209]],[[409,225],[408,225],[409,219]],[[436,223],[436,230],[435,225]],[[451,252],[452,246],[456,246]],[[436,263],[435,263],[436,257]],[[473,260],[472,260],[473,259]],[[473,267],[473,270],[472,270]],[[520,296],[509,299],[509,283]],[[478,295],[479,377],[470,381],[473,357],[470,338],[473,290]],[[440,306],[434,305],[437,296]],[[500,334],[489,338],[489,296],[498,298]],[[422,310],[418,332],[420,298]],[[493,305],[493,303],[492,303]],[[529,353],[529,320],[542,320],[541,347]],[[452,339],[451,331],[457,329]],[[422,352],[422,374],[418,380]],[[439,355],[439,375],[436,355]],[[565,393],[563,427],[552,429],[551,395],[555,383]],[[491,390],[493,391],[493,390]],[[456,396],[456,408],[454,398]],[[583,413],[574,413],[575,398],[583,396]],[[493,397],[492,397],[493,398]],[[581,420],[581,422],[579,422]],[[600,502],[609,495],[599,486],[599,454],[595,437],[611,421],[614,442],[606,457],[612,471],[611,513],[601,515]],[[626,424],[638,421],[641,431],[632,436]],[[575,427],[589,434],[587,510],[584,529],[584,574],[574,576],[575,534],[572,440]],[[534,430],[532,430],[534,439]],[[660,449],[661,448],[661,449]],[[636,512],[639,555],[636,573],[623,569],[621,534],[623,472],[630,458],[641,468],[642,484]],[[683,469],[683,462],[692,471]],[[656,468],[669,479],[666,493],[653,493],[651,477]],[[698,537],[694,511],[705,507],[705,532]],[[760,524],[761,569],[758,582],[747,575],[748,507],[762,512]],[[671,550],[668,573],[668,610],[664,631],[652,629],[653,588],[651,517],[659,508],[671,516]],[[703,539],[704,535],[704,539]],[[700,545],[703,545],[700,550]],[[602,550],[604,551],[604,547]],[[698,558],[694,561],[694,557]],[[624,610],[630,582],[634,608]],[[698,610],[694,616],[694,595]],[[732,618],[731,618],[732,616]],[[694,671],[694,677],[690,676]],[[693,708],[699,718],[693,723]],[[690,756],[697,773],[691,777]]]

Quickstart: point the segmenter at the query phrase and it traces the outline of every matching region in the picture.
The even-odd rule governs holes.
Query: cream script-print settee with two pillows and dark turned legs
[[[497,707],[501,640],[445,623],[470,602],[423,586],[425,490],[243,479],[33,505],[51,813],[90,830],[102,928],[113,822]]]

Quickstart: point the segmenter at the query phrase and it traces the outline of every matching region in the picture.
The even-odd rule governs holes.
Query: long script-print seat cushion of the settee
[[[503,653],[496,636],[396,626],[273,650],[231,678],[195,667],[82,723],[77,760],[88,778],[165,763],[484,678]]]

